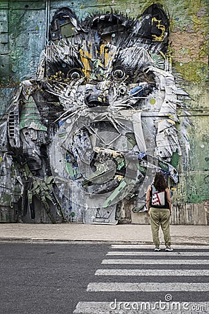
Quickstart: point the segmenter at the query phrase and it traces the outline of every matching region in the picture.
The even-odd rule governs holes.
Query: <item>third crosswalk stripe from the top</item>
[[[102,260],[102,264],[171,264],[208,265],[209,260]]]

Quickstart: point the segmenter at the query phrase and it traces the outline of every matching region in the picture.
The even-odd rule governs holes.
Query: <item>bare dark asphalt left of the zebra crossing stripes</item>
[[[72,313],[107,245],[0,244],[0,313]]]

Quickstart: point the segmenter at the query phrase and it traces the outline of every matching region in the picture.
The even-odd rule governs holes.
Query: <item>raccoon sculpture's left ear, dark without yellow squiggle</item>
[[[79,20],[70,8],[60,8],[54,13],[49,27],[49,39],[60,40],[61,38],[74,36],[80,30]]]

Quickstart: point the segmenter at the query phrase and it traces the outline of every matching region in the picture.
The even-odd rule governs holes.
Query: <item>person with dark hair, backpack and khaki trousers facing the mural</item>
[[[171,197],[169,188],[161,172],[156,172],[154,183],[148,186],[146,206],[148,217],[150,217],[155,251],[160,251],[160,226],[164,235],[165,251],[173,251],[170,234]]]

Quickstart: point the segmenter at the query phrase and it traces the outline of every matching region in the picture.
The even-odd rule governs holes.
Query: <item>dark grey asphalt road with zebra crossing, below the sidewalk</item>
[[[173,301],[204,303],[209,301],[208,252],[209,248],[180,248],[157,255],[148,248],[116,249],[109,244],[1,243],[0,313],[72,314],[78,302],[155,302],[164,301],[167,294]],[[178,271],[184,271],[184,276]],[[191,276],[191,271],[196,276]],[[144,286],[144,291],[138,291],[136,282]],[[188,289],[184,287],[187,284]],[[97,312],[92,309],[89,313]]]

